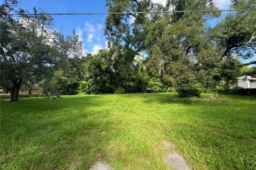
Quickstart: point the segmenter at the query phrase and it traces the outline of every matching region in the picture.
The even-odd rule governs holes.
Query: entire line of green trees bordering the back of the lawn
[[[220,12],[133,13],[218,10],[213,0],[106,0],[108,12],[131,13],[107,16],[108,48],[95,55],[85,55],[76,32],[65,37],[44,11],[10,16],[17,5],[9,0],[0,7],[0,86],[11,101],[35,84],[54,97],[171,88],[181,97],[199,96],[200,88],[228,88],[241,68],[256,64],[255,0],[232,1],[231,9],[251,11],[229,12],[214,25]]]

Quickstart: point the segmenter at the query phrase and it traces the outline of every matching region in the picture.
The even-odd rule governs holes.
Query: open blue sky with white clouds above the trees
[[[165,3],[166,0],[152,0],[155,3]],[[215,0],[217,6],[227,9],[230,0]],[[3,0],[0,0],[3,3]],[[85,13],[107,12],[105,0],[20,0],[19,6],[32,11],[34,7],[41,8],[49,13]],[[73,29],[81,37],[84,43],[85,53],[96,53],[106,46],[106,38],[103,35],[105,19],[107,15],[54,15],[55,27],[65,35],[72,33]],[[212,21],[214,23],[215,20]]]

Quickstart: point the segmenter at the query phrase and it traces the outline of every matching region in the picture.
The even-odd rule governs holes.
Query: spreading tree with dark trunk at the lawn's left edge
[[[19,10],[11,16],[18,1],[5,1],[0,6],[0,86],[10,91],[11,101],[18,101],[22,84],[41,83],[44,94],[55,96],[49,85],[54,70],[65,67],[69,56],[82,47],[75,35],[65,38],[53,29],[53,18],[34,8],[28,16]]]

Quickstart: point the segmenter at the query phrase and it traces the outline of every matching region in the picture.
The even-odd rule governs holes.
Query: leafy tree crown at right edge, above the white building
[[[256,3],[255,0],[239,0],[231,5],[231,9],[252,11],[229,12],[225,19],[213,29],[218,45],[223,49],[222,57],[237,57],[242,60],[254,58],[256,52]],[[236,57],[234,57],[236,58]],[[244,65],[256,64],[245,63]]]

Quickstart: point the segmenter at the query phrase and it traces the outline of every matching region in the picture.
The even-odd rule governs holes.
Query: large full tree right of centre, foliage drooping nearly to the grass
[[[206,5],[208,1],[177,3],[176,7],[183,10],[214,8],[214,5]],[[210,41],[211,34],[207,30],[205,18],[212,17],[210,13],[180,14],[164,16],[155,23],[149,23],[145,27],[148,32],[145,41],[147,44],[153,43],[147,49],[149,57],[146,66],[149,75],[158,75],[168,86],[185,94],[196,88],[217,86],[227,75],[223,73],[234,69],[229,64],[231,61],[220,60],[219,49],[215,48],[214,41]],[[173,23],[170,24],[170,20]],[[235,77],[235,74],[229,75]],[[188,96],[192,94],[194,92]],[[197,92],[195,96],[198,96]]]

